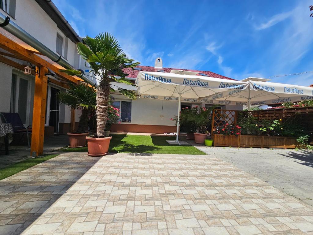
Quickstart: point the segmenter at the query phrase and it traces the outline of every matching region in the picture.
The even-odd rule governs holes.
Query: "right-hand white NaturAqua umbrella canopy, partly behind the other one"
[[[278,104],[313,100],[313,88],[283,83],[267,82],[268,79],[249,77],[242,81],[248,82],[248,89],[229,89],[202,98],[201,102],[223,102],[233,105]]]

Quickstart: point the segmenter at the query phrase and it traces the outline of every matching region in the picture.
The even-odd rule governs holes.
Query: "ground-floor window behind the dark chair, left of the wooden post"
[[[17,112],[26,125],[29,120],[30,93],[30,81],[12,74],[10,112]]]

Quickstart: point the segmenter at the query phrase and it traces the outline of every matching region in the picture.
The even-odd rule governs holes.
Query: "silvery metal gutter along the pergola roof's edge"
[[[28,34],[24,29],[19,27],[17,24],[15,24],[13,21],[10,20],[8,16],[3,15],[0,13],[0,27],[7,30],[9,33],[13,34],[17,38],[21,39],[28,45],[32,46],[36,50],[38,50],[43,55],[47,56],[52,61],[58,63],[59,65],[63,66],[65,69],[73,69],[73,66],[70,65],[66,60],[64,60],[60,55],[56,54],[52,50],[50,50],[48,47],[46,47],[44,44],[39,42],[37,39],[35,39],[32,35]],[[81,79],[83,79],[85,82],[89,83],[90,85],[96,86],[95,82],[91,81],[89,78],[87,78],[84,75],[79,75]]]

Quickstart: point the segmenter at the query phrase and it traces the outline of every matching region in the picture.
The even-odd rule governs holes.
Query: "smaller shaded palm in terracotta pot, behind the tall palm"
[[[86,145],[86,136],[88,131],[88,116],[90,109],[95,106],[96,92],[93,87],[87,83],[79,84],[69,83],[69,89],[66,92],[60,92],[58,98],[61,103],[69,105],[72,109],[81,110],[78,122],[78,128],[75,132],[68,132],[69,148],[78,148]]]

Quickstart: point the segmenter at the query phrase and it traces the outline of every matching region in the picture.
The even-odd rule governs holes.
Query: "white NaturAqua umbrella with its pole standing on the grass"
[[[190,71],[184,70],[172,70],[171,73],[140,71],[136,77],[136,85],[141,97],[178,101],[177,143],[179,143],[178,129],[182,99],[186,102],[200,102],[203,97],[208,97],[230,88],[245,90],[249,84],[244,81],[190,74]]]

